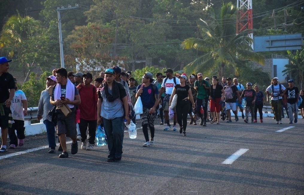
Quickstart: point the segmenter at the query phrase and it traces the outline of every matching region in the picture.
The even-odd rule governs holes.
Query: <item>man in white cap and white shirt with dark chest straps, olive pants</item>
[[[282,124],[282,105],[284,93],[286,88],[282,84],[278,84],[278,77],[272,79],[273,84],[269,85],[266,89],[266,93],[271,96],[271,107],[273,109],[276,124]],[[272,91],[270,93],[270,91]]]

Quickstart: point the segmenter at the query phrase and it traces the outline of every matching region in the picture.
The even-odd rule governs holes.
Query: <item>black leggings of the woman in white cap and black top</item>
[[[188,99],[177,102],[176,105],[177,122],[180,127],[183,127],[183,131],[186,131],[189,109],[190,109],[190,104]]]

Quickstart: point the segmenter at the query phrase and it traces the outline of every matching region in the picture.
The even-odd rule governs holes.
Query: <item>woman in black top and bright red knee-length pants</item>
[[[225,97],[225,91],[222,85],[218,83],[217,78],[212,78],[212,85],[210,87],[210,112],[212,115],[211,124],[214,123],[216,120],[216,124],[219,124],[220,119],[220,111],[221,111],[221,104],[220,101],[223,101]],[[216,113],[216,114],[215,114]]]

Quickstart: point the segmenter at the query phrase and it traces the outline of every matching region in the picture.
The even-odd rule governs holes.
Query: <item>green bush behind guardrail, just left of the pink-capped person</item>
[[[46,89],[46,78],[51,74],[52,72],[45,71],[39,76],[32,72],[29,75],[29,80],[23,83],[21,90],[25,93],[28,107],[38,106],[41,92]]]

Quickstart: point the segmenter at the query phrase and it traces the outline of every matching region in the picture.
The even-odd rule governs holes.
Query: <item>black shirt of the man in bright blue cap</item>
[[[4,103],[9,99],[9,89],[15,91],[14,77],[9,73],[3,73],[0,76],[0,103]]]

